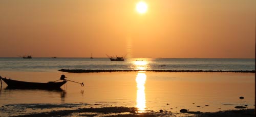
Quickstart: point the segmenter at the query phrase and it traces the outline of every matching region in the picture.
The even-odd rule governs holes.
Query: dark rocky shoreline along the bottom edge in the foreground
[[[136,107],[90,107],[90,108],[74,108],[63,110],[52,110],[46,112],[27,113],[22,115],[13,115],[17,117],[23,116],[254,116],[254,109],[236,109],[223,110],[217,112],[172,112],[172,111],[152,111],[147,110],[143,113],[138,112]]]

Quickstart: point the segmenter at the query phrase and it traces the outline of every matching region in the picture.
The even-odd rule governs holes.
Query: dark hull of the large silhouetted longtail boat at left
[[[2,80],[8,85],[8,87],[13,87],[17,89],[57,89],[67,82],[64,80],[62,82],[39,83],[18,81],[6,78],[2,78]]]

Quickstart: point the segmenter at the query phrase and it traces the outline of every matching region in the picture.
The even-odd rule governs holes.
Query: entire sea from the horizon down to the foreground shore
[[[133,72],[66,73],[60,69],[136,70]],[[137,71],[138,70],[138,71]],[[251,72],[152,72],[146,70],[222,70]],[[0,116],[97,108],[137,107],[146,110],[216,112],[254,108],[255,59],[244,58],[109,58],[0,57],[2,77],[29,81],[68,81],[60,90],[0,88]],[[240,99],[239,97],[244,97]],[[95,114],[95,113],[92,113]],[[72,114],[70,116],[79,116]]]

